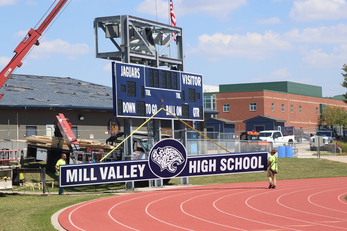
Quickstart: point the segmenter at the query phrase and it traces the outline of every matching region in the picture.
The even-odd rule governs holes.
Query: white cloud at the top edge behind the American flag
[[[156,2],[156,11],[155,11]],[[226,19],[228,14],[237,8],[247,5],[246,0],[200,0],[196,1],[174,1],[176,20],[179,16],[205,13],[219,19]],[[147,12],[150,15],[158,13],[159,18],[168,18],[169,4],[167,0],[144,0],[136,7],[137,12]]]

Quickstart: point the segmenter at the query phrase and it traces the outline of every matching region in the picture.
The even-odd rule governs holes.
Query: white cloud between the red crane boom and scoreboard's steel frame
[[[28,55],[31,59],[46,59],[50,54],[67,54],[67,59],[73,58],[76,55],[84,55],[89,53],[89,47],[86,44],[70,44],[60,38],[53,41],[40,42],[39,46],[34,47]]]

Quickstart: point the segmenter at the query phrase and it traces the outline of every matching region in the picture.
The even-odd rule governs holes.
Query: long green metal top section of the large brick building
[[[219,92],[279,91],[294,95],[322,97],[322,87],[289,81],[219,85]]]

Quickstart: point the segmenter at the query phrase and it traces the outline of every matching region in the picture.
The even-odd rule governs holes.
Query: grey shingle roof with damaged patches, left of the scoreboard
[[[80,109],[103,108],[112,111],[112,88],[78,79],[12,74],[0,89],[6,105],[70,106]]]

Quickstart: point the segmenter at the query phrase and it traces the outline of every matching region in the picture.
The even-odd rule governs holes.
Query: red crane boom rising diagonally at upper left
[[[20,68],[22,66],[22,60],[24,56],[29,52],[30,48],[33,45],[40,45],[39,37],[42,35],[42,32],[46,27],[51,23],[54,17],[58,14],[58,12],[61,10],[61,8],[65,5],[65,3],[68,0],[60,0],[57,5],[53,8],[53,10],[50,12],[50,14],[45,18],[45,20],[42,22],[42,24],[39,26],[38,29],[34,30],[31,28],[28,32],[28,35],[25,36],[22,42],[18,44],[14,52],[16,53],[11,61],[5,66],[4,69],[0,72],[0,88],[4,85],[6,80],[10,77],[11,73],[15,70],[16,66]],[[4,94],[0,94],[0,99],[2,98]]]

